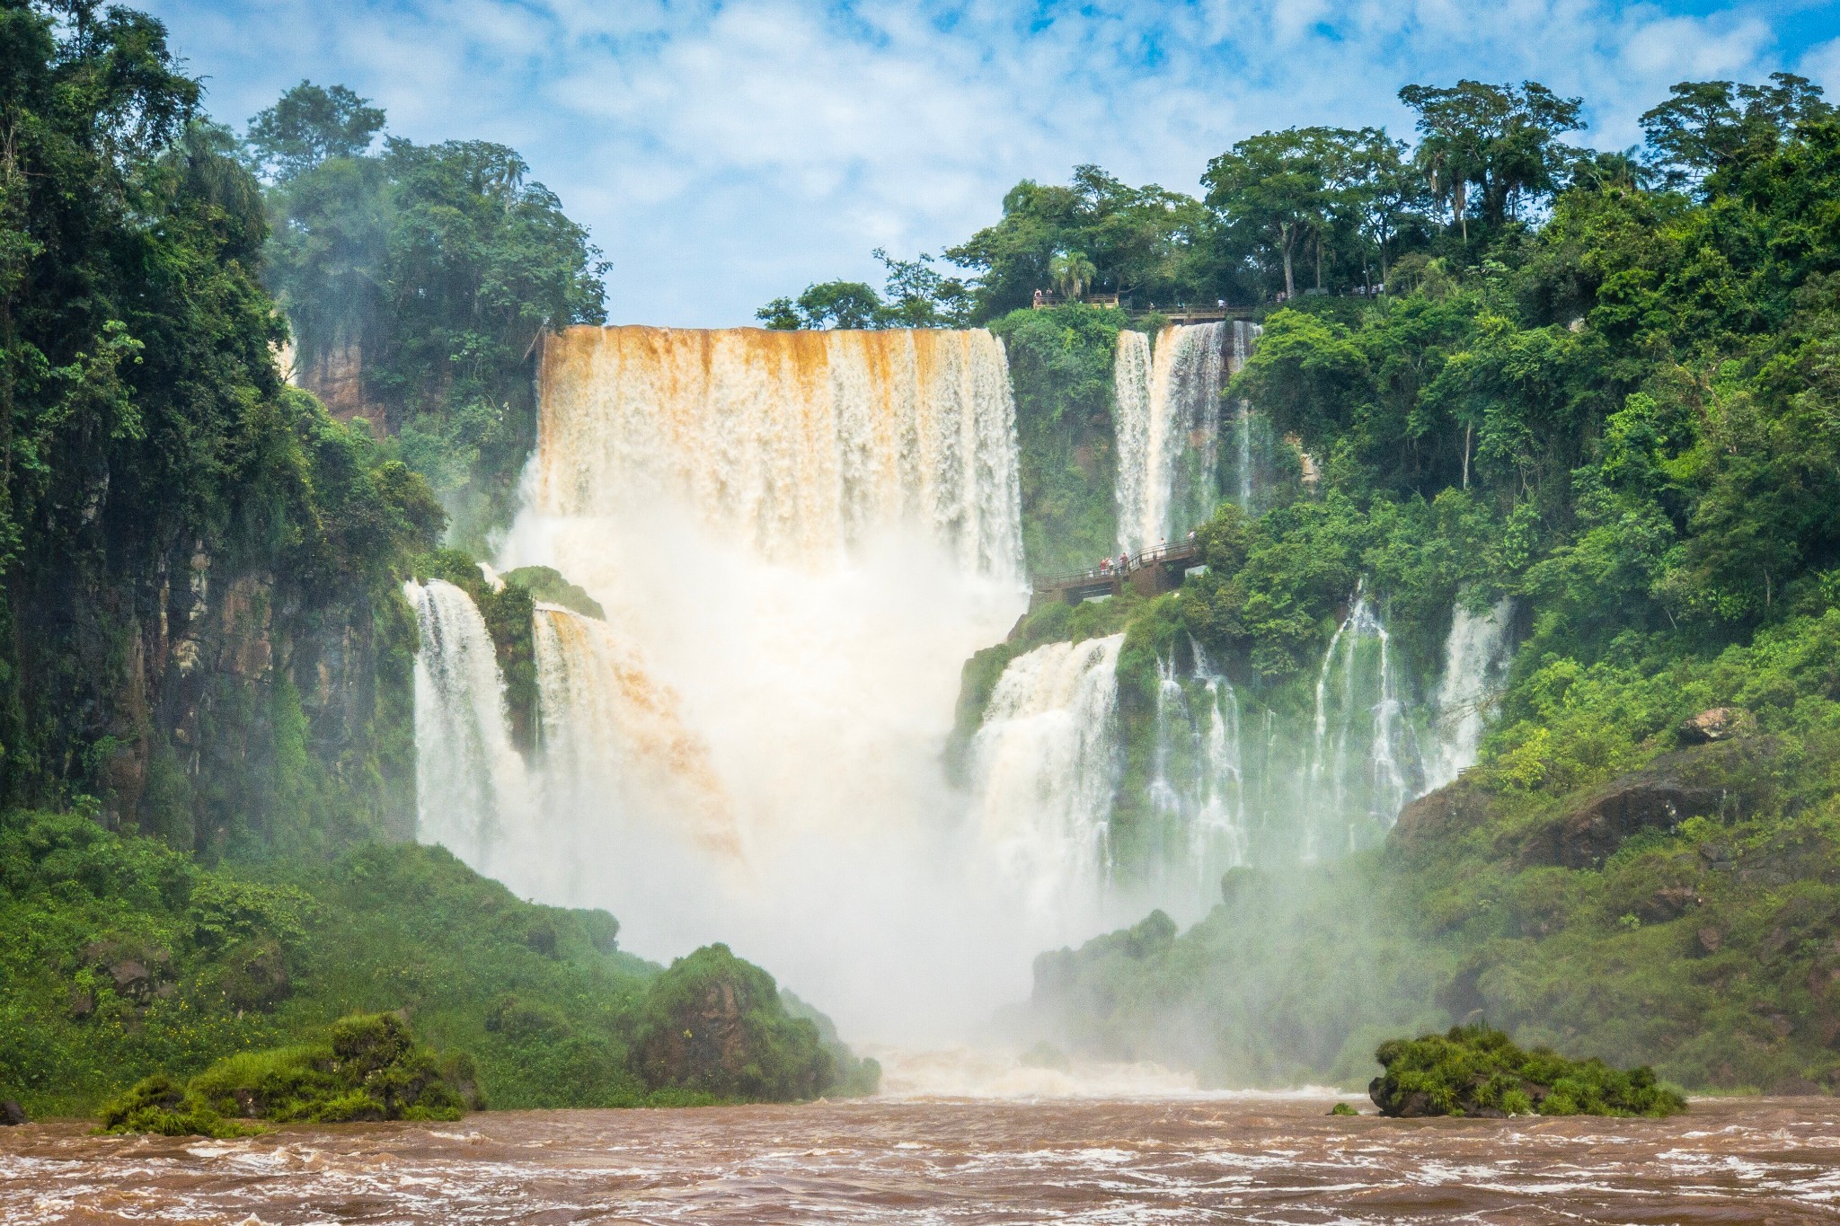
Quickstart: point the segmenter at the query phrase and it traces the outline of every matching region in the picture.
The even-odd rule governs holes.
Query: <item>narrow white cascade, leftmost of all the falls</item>
[[[512,744],[499,656],[473,599],[440,579],[408,581],[416,610],[416,836],[482,873],[515,871],[535,796]]]

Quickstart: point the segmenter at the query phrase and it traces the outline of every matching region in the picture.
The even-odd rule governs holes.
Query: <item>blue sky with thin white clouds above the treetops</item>
[[[1840,0],[138,0],[237,129],[342,83],[418,142],[497,140],[591,226],[615,322],[734,325],[868,252],[938,252],[1019,178],[1192,191],[1235,140],[1409,118],[1400,85],[1536,79],[1593,145],[1682,79],[1840,94]]]

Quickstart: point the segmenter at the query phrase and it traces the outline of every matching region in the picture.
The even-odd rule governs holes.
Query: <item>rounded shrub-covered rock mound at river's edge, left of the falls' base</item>
[[[863,1084],[872,1081],[863,1068],[824,1044],[815,1020],[788,1013],[771,974],[727,945],[679,958],[657,978],[640,1009],[633,1064],[653,1090],[751,1103],[874,1088]]]

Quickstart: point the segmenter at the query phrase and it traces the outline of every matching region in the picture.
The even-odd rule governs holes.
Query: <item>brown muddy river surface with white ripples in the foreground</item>
[[[24,1222],[1831,1222],[1840,1101],[1360,1119],[1316,1097],[486,1112],[247,1141],[0,1129]],[[1369,1108],[1371,1110],[1371,1108]]]

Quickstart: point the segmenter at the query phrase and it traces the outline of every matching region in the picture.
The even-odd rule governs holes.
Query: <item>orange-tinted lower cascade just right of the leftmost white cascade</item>
[[[664,823],[705,851],[740,855],[734,805],[708,746],[638,653],[605,621],[556,605],[537,605],[534,634],[552,822],[591,840],[633,822]]]

